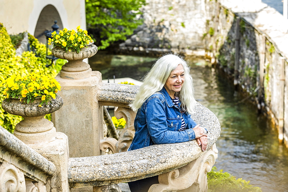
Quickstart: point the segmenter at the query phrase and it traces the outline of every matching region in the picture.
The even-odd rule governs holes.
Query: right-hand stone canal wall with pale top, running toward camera
[[[288,20],[260,0],[207,0],[205,9],[207,55],[234,78],[259,111],[272,117],[279,141],[284,138],[287,145]]]

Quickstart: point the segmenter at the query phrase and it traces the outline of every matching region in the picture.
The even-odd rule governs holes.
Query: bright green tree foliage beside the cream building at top
[[[137,26],[143,24],[138,16],[146,5],[145,0],[86,0],[86,22],[88,31],[95,39],[98,49],[111,43],[126,40]]]

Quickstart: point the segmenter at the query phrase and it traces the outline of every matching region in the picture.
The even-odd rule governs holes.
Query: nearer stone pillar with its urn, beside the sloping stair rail
[[[41,99],[35,99],[29,104],[23,104],[20,99],[9,99],[9,101],[5,99],[2,102],[2,108],[10,114],[24,118],[15,126],[14,135],[56,167],[56,173],[51,180],[44,183],[46,186],[43,184],[40,188],[46,187],[47,191],[68,192],[68,138],[64,133],[56,132],[53,123],[43,118],[45,114],[58,110],[63,100],[57,95],[51,103],[43,103],[42,107],[39,107],[40,103]]]

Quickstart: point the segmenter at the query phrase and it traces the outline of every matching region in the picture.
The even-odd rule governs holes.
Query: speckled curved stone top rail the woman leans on
[[[199,103],[193,119],[209,130],[208,152],[220,136],[220,123],[209,109]],[[71,188],[134,181],[178,169],[206,152],[194,140],[110,155],[69,158],[68,181]]]

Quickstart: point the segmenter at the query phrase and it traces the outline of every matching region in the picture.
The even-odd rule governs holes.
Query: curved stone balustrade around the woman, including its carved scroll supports
[[[221,127],[217,117],[203,105],[197,104],[193,119],[209,130],[208,147],[205,152],[195,140],[126,151],[134,137],[135,117],[135,113],[128,109],[128,103],[132,101],[137,90],[138,86],[133,85],[104,83],[101,86],[98,95],[99,104],[120,108],[118,114],[122,115],[117,117],[116,113],[116,117],[126,116],[128,124],[123,130],[126,135],[122,132],[118,141],[113,138],[101,141],[101,149],[104,151],[109,148],[114,154],[69,158],[70,187],[111,186],[159,175],[160,184],[151,186],[151,191],[188,188],[205,191],[206,172],[211,170],[218,153],[215,142],[220,136]]]

